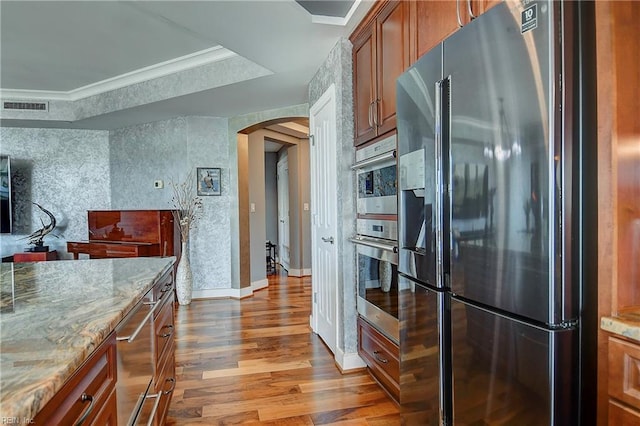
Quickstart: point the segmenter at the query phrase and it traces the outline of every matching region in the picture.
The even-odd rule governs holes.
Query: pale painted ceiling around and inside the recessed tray
[[[3,100],[21,96],[73,102],[82,99],[87,86],[91,93],[104,94],[113,90],[105,80],[126,87],[131,83],[119,78],[124,74],[216,46],[265,70],[257,77],[193,93],[177,91],[166,99],[77,122],[4,119],[2,125],[113,129],[176,116],[233,117],[305,103],[308,83],[329,51],[340,37],[349,36],[372,5],[371,0],[356,1],[341,18],[328,16],[335,15],[336,0],[312,3],[314,13],[322,13],[318,7],[323,3],[331,11],[311,15],[294,0],[2,0]]]

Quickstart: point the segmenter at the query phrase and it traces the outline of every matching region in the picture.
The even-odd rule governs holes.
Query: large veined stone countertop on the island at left
[[[174,262],[0,264],[0,418],[35,417]]]

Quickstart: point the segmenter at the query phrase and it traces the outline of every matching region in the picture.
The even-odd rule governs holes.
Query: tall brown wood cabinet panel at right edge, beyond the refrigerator
[[[603,75],[603,78],[612,81],[614,93],[609,98],[609,122],[617,227],[617,280],[614,283],[617,306],[613,312],[618,314],[640,310],[640,59],[637,54],[640,3],[612,2],[610,10],[614,29],[610,49],[615,74]],[[598,108],[601,108],[600,99]]]

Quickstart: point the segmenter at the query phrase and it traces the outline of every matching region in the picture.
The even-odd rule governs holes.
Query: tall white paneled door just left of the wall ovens
[[[335,354],[338,251],[335,86],[311,107],[311,327]]]

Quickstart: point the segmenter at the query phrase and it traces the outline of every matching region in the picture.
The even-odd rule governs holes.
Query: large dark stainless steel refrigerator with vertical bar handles
[[[403,424],[584,420],[578,8],[502,3],[398,79]]]

